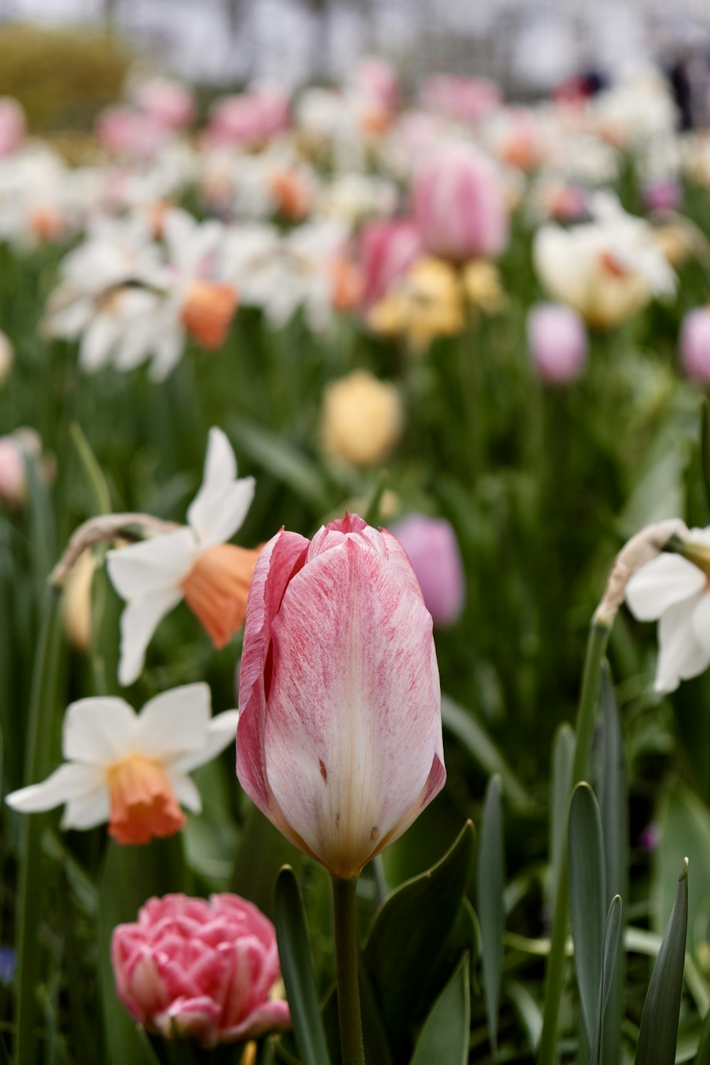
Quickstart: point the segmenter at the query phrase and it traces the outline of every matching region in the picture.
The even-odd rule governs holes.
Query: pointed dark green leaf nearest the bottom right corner
[[[688,935],[688,858],[641,1017],[635,1065],[674,1065]]]

